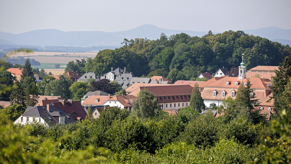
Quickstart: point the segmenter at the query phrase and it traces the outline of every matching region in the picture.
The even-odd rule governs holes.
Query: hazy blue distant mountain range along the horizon
[[[258,35],[272,41],[291,45],[291,29],[284,30],[277,27],[265,27],[254,30],[244,30],[245,33]],[[67,46],[67,47],[92,47],[104,46],[111,48],[122,46],[124,38],[147,38],[158,39],[161,33],[170,36],[173,34],[186,33],[191,36],[203,36],[208,31],[181,31],[168,30],[145,24],[127,31],[103,32],[103,31],[69,31],[64,32],[55,29],[34,30],[21,34],[12,34],[0,31],[0,44],[3,45],[34,45],[45,46]],[[221,32],[213,32],[221,33]],[[113,47],[112,47],[113,46]],[[10,46],[8,46],[10,47]],[[13,46],[12,46],[13,47]]]

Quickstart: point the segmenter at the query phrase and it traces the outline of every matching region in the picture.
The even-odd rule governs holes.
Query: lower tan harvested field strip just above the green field
[[[76,61],[76,59],[78,60],[83,59],[83,58],[76,58],[76,57],[58,57],[58,56],[30,56],[30,57],[23,56],[23,58],[34,59],[40,63],[69,63],[69,61]]]

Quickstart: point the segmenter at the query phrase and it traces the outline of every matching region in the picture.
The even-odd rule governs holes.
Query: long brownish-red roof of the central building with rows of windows
[[[165,85],[165,86],[148,86],[139,87],[131,92],[129,95],[137,96],[140,90],[147,88],[148,91],[153,92],[156,97],[160,96],[184,96],[192,94],[192,87],[190,85]]]

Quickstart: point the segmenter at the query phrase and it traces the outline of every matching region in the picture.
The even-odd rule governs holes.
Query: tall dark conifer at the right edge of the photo
[[[279,64],[278,70],[275,70],[276,75],[273,76],[273,99],[274,99],[274,111],[280,113],[286,101],[281,96],[285,91],[286,85],[290,82],[291,77],[291,61],[289,57],[285,57],[282,63]]]

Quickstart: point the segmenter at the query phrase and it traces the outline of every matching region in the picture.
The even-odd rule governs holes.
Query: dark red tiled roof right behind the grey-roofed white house
[[[87,113],[81,105],[80,101],[72,102],[73,103],[71,104],[69,101],[65,101],[65,106],[62,104],[62,102],[53,102],[52,105],[55,105],[59,109],[69,113],[75,120],[80,120],[80,118],[84,120],[87,116]],[[76,114],[74,115],[74,113]]]

